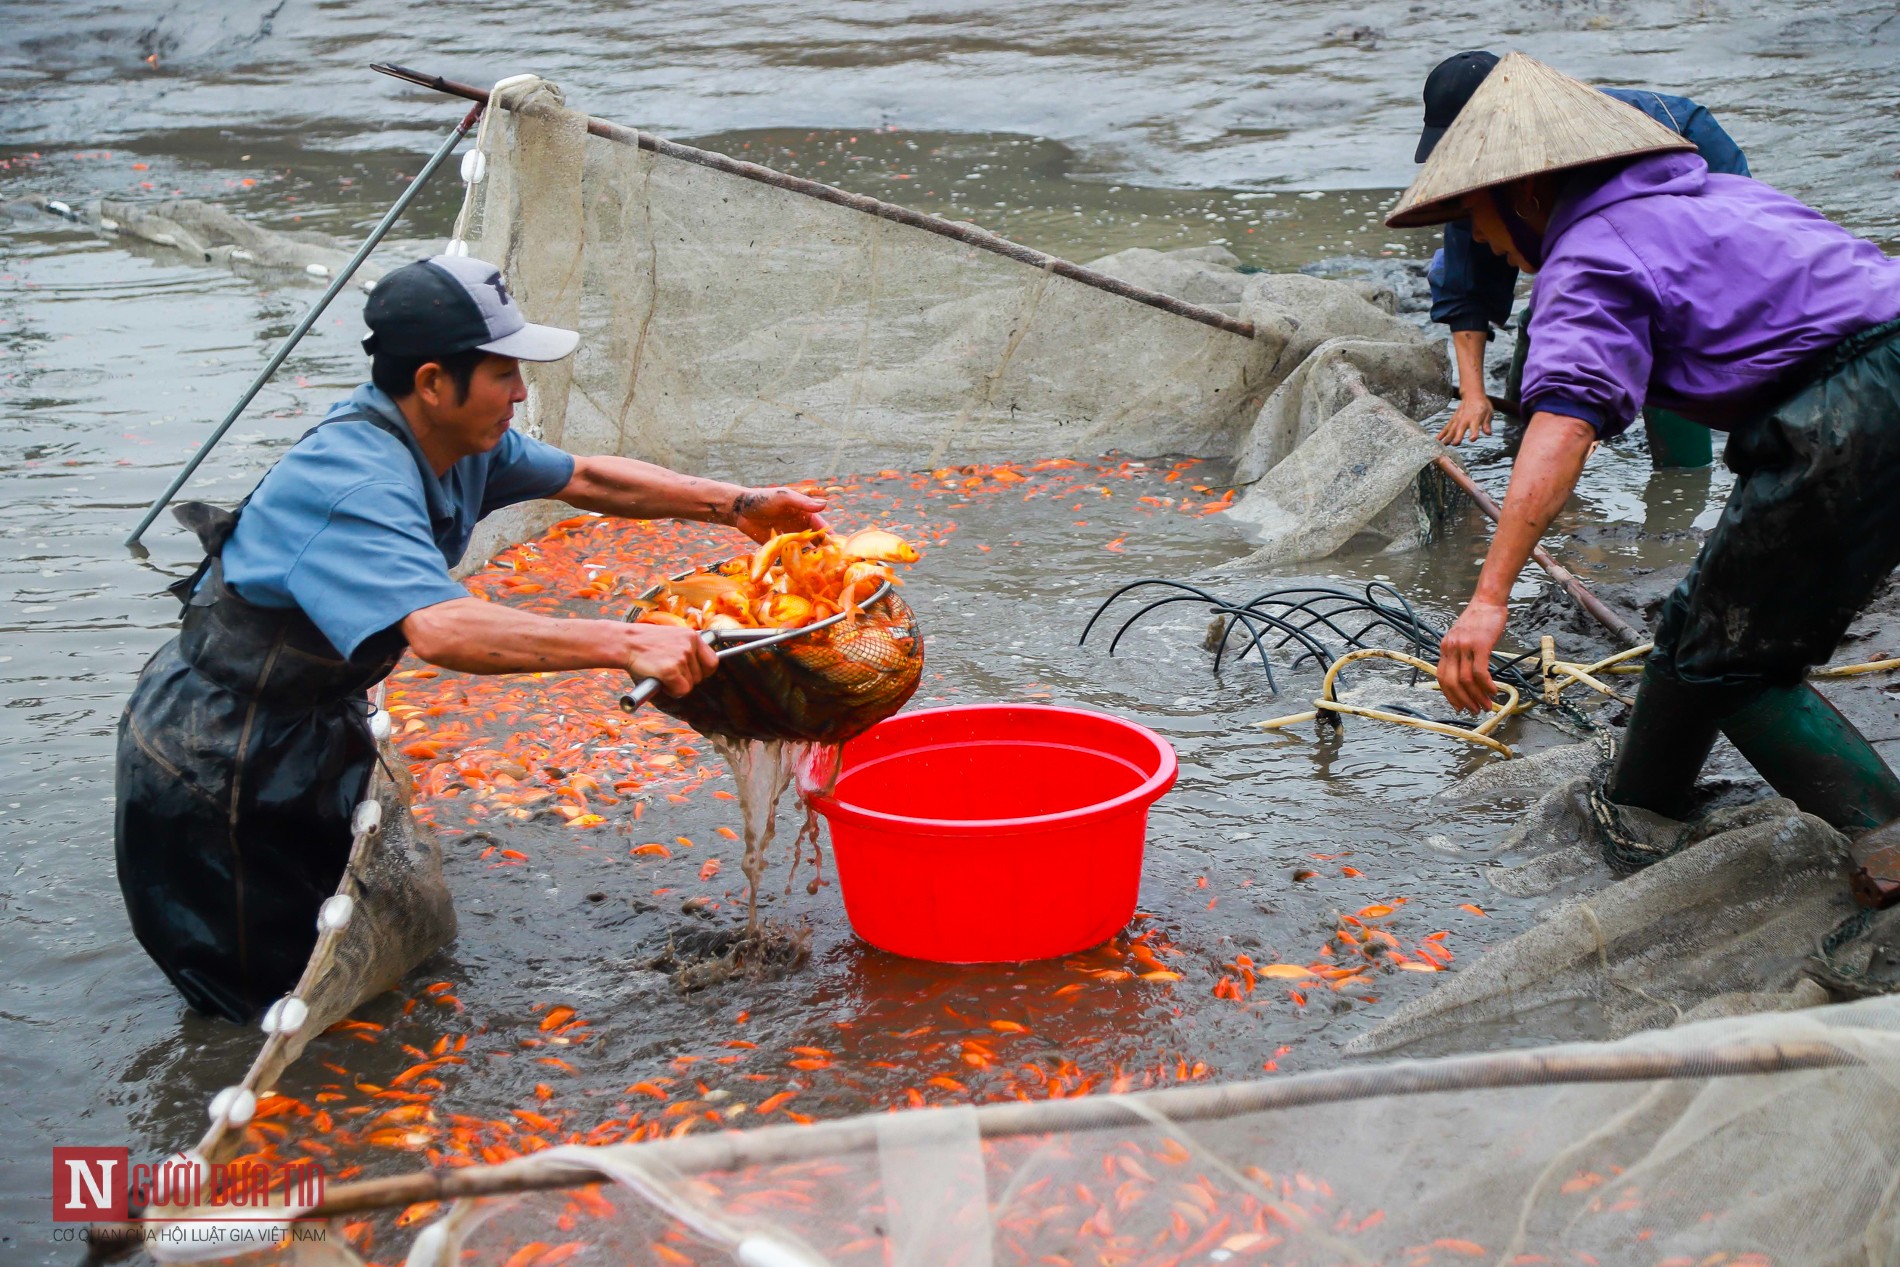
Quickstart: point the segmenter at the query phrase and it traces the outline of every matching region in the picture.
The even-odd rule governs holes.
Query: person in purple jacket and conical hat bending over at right
[[[1727,433],[1737,482],[1662,608],[1602,807],[1683,817],[1721,731],[1780,794],[1868,832],[1900,819],[1900,779],[1805,672],[1900,564],[1900,260],[1606,103],[1507,57],[1387,218],[1469,215],[1537,274],[1530,425],[1440,684],[1488,707],[1531,547],[1592,446],[1662,405]]]

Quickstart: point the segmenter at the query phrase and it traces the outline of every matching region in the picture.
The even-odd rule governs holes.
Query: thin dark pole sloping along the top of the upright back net
[[[439,74],[426,74],[422,70],[410,70],[407,66],[395,66],[390,63],[370,63],[370,70],[388,74],[420,87],[429,87],[450,97],[462,97],[464,101],[486,103],[488,89],[475,87],[471,84],[458,84],[456,80],[445,80]],[[817,180],[806,180],[802,177],[788,177],[783,171],[773,171],[771,167],[760,167],[758,163],[747,163],[737,158],[728,158],[724,154],[714,154],[712,150],[699,150],[690,144],[680,144],[678,141],[667,141],[652,133],[638,131],[635,127],[623,127],[621,123],[612,123],[600,118],[587,120],[589,135],[600,137],[602,141],[616,141],[619,144],[635,144],[642,150],[652,150],[654,154],[665,154],[667,158],[676,158],[686,163],[697,163],[701,167],[711,167],[712,171],[724,171],[730,177],[743,177],[747,180],[756,180],[758,184],[770,184],[777,190],[787,190],[792,194],[804,194],[806,198],[817,198],[819,201],[832,203],[836,207],[849,207],[853,211],[863,211],[864,215],[874,215],[880,220],[891,220],[893,224],[908,224],[910,228],[922,228],[927,234],[937,234],[939,237],[950,237],[961,241],[969,247],[980,251],[990,251],[992,255],[1001,255],[1005,258],[1016,260],[1018,264],[1028,264],[1030,268],[1041,268],[1058,277],[1068,277],[1070,281],[1079,281],[1085,287],[1094,287],[1096,291],[1108,291],[1110,294],[1119,294],[1121,298],[1134,300],[1136,304],[1146,304],[1148,308],[1159,308],[1161,312],[1174,313],[1176,317],[1188,317],[1189,321],[1199,321],[1201,325],[1210,325],[1216,331],[1227,331],[1229,334],[1239,334],[1241,338],[1254,336],[1254,323],[1241,321],[1239,317],[1229,317],[1224,312],[1212,308],[1203,308],[1199,304],[1189,304],[1188,300],[1174,298],[1172,294],[1163,294],[1161,291],[1150,291],[1148,287],[1130,285],[1119,277],[1110,277],[1092,268],[1083,268],[1081,264],[1072,264],[1070,260],[1058,258],[1054,255],[1045,255],[1022,243],[999,237],[990,230],[977,228],[975,224],[963,224],[960,220],[944,220],[942,217],[925,215],[923,211],[912,211],[910,207],[899,207],[897,203],[887,203],[876,198],[866,198],[864,194],[847,194],[830,184],[821,184]]]

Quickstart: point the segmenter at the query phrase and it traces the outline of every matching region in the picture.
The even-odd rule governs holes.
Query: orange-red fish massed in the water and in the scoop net
[[[864,543],[882,568],[884,562],[914,557],[906,539],[920,545],[946,539],[958,530],[946,511],[980,498],[1075,496],[1079,509],[1081,498],[1110,496],[1112,481],[1140,477],[1144,484],[1153,484],[1153,492],[1138,498],[1146,513],[1224,511],[1233,492],[1197,484],[1195,465],[1053,460],[927,473],[878,471],[811,488],[832,500],[832,519],[840,524],[861,519],[889,526],[876,538],[846,538]],[[904,515],[912,515],[914,522],[901,522]],[[808,543],[790,541],[764,547],[760,557],[770,555],[770,560],[758,577],[766,577],[771,566],[781,566],[783,574],[781,560],[790,557],[790,545],[808,549]],[[988,551],[990,545],[977,549]],[[1125,536],[1102,543],[1102,549],[1121,553]],[[481,598],[534,612],[618,617],[659,576],[682,566],[712,566],[730,553],[730,534],[695,524],[578,517],[505,551],[469,579],[469,589]],[[840,558],[846,557],[847,551],[840,553]],[[846,587],[864,577],[847,579],[842,568],[834,568],[832,576],[840,581],[838,591],[821,591],[819,602],[836,610],[863,596]],[[787,589],[781,587],[781,598]],[[771,600],[764,591],[735,591],[730,615],[739,619],[749,612],[747,623],[796,623],[817,610],[813,604],[796,614],[788,608],[773,612]],[[709,606],[699,604],[701,623],[707,612]],[[733,800],[730,790],[718,786],[726,775],[716,764],[707,764],[705,745],[694,731],[654,710],[619,712],[614,699],[623,688],[623,676],[612,672],[471,678],[410,661],[390,682],[388,709],[397,728],[395,743],[416,777],[416,815],[441,830],[445,849],[475,853],[490,868],[528,864],[530,855],[507,843],[507,828],[528,819],[545,823],[549,813],[572,828],[574,847],[631,859],[636,868],[671,866],[671,874],[678,874],[682,860],[690,864],[690,859],[703,857],[697,872],[688,874],[712,885],[705,900],[716,904],[722,860],[712,857],[712,845],[669,832],[667,811],[699,796]],[[716,830],[726,840],[737,840],[730,826]],[[467,843],[458,843],[464,840]],[[1360,879],[1357,868],[1338,864],[1338,855],[1311,857],[1315,868],[1328,866],[1341,878]],[[466,862],[466,857],[458,860]],[[1294,879],[1315,874],[1307,870]],[[1208,889],[1205,876],[1195,883]],[[1210,893],[1206,906],[1216,900],[1218,893]],[[1486,916],[1474,904],[1463,912],[1471,919]],[[481,999],[462,997],[456,982],[439,980],[416,986],[403,999],[401,1020],[346,1020],[334,1026],[314,1045],[300,1073],[293,1071],[304,1094],[268,1096],[247,1140],[258,1159],[315,1157],[331,1168],[329,1180],[336,1183],[424,1164],[500,1163],[557,1144],[623,1144],[754,1123],[809,1123],[815,1113],[806,1109],[826,1107],[828,1085],[859,1088],[859,1075],[880,1083],[908,1081],[885,1096],[891,1107],[1188,1083],[1208,1073],[1206,1064],[1191,1054],[1130,1068],[1096,1056],[1096,1049],[1085,1045],[1092,1039],[1072,1041],[1060,1054],[1049,1054],[1047,1047],[1037,1058],[1026,1058],[1026,1052],[1036,1043],[1037,1016],[1049,1016],[1051,1009],[1138,1005],[1165,1014],[1172,1003],[1172,1012],[1180,1016],[1182,1007],[1210,995],[1216,1003],[1195,1005],[1231,1007],[1244,1016],[1262,1009],[1305,1011],[1334,995],[1374,1003],[1381,982],[1398,973],[1448,969],[1454,963],[1450,940],[1446,929],[1417,931],[1408,919],[1406,898],[1391,897],[1340,916],[1338,927],[1305,961],[1264,963],[1237,955],[1210,974],[1203,965],[1189,963],[1151,916],[1138,914],[1108,946],[1072,955],[1053,969],[1068,980],[1049,990],[1045,999],[1030,1005],[1026,995],[1013,995],[1024,999],[1022,1007],[1009,1009],[1013,1014],[999,1014],[994,995],[969,1003],[963,995],[937,993],[933,1003],[942,997],[956,1003],[940,1001],[923,1007],[922,1014],[916,1003],[885,1011],[866,1005],[855,1024],[836,1022],[836,1039],[768,1050],[745,1037],[749,1014],[741,1011],[730,1016],[724,1035],[709,1035],[694,1049],[659,1060],[646,1077],[610,1088],[589,1085],[587,1071],[578,1064],[602,1020],[583,1014],[578,1001],[549,997],[534,1009],[532,1022],[494,1026],[483,1016]],[[1186,992],[1195,993],[1189,997]],[[437,1037],[426,1047],[408,1043],[405,1026],[410,1018],[426,1020]],[[864,1033],[878,1020],[897,1024],[880,1035],[880,1043],[870,1043]],[[407,1062],[380,1083],[365,1081],[352,1069],[350,1052],[361,1050],[357,1045],[378,1049],[376,1068],[393,1066],[390,1047],[397,1047]],[[1281,1047],[1275,1056],[1286,1050]],[[540,1081],[534,1083],[532,1102],[500,1117],[456,1111],[458,1071],[477,1060],[534,1062]],[[1262,1071],[1275,1068],[1277,1060],[1269,1058]],[[990,1164],[1007,1168],[1011,1147],[1011,1142],[986,1142]],[[1098,1176],[1054,1185],[1045,1176],[1015,1193],[1011,1206],[998,1212],[998,1252],[1013,1256],[999,1261],[1049,1267],[1292,1261],[1284,1258],[1292,1248],[1290,1233],[1322,1229],[1336,1244],[1385,1220],[1381,1210],[1349,1208],[1324,1178],[1248,1168],[1241,1183],[1220,1168],[1203,1166],[1172,1140],[1127,1140],[1091,1164],[1100,1168]],[[836,1174],[830,1163],[800,1163],[703,1176],[699,1182],[720,1197],[732,1216],[770,1220],[809,1210]],[[1579,1172],[1564,1191],[1577,1193],[1581,1201],[1600,1185],[1604,1191],[1590,1197],[1598,1210],[1640,1210],[1632,1195],[1619,1199],[1613,1193],[1613,1174]],[[874,1191],[864,1193],[864,1204],[876,1201]],[[587,1252],[589,1220],[625,1220],[636,1204],[612,1189],[570,1189],[542,1239],[486,1250],[481,1261],[557,1267]],[[359,1254],[399,1261],[410,1233],[397,1235],[393,1229],[414,1229],[437,1214],[433,1204],[410,1206],[388,1218],[350,1220],[342,1229]],[[825,1248],[838,1263],[884,1263],[889,1242],[872,1227],[832,1221]],[[1275,1256],[1277,1248],[1282,1256]],[[1442,1237],[1408,1246],[1404,1258],[1395,1261],[1429,1267],[1486,1256],[1490,1250],[1482,1244]],[[728,1259],[694,1240],[684,1227],[661,1220],[646,1258],[633,1261],[684,1265]],[[1518,1267],[1554,1261],[1588,1267],[1583,1259],[1537,1254],[1512,1261]],[[1769,1259],[1752,1254],[1721,1261],[1727,1267],[1769,1267]]]

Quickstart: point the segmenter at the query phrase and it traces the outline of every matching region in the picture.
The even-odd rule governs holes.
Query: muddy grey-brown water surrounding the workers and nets
[[[1803,6],[1790,17],[1771,4],[1548,4],[1512,9],[1509,30],[1499,30],[1497,13],[1374,2],[1341,15],[1338,6],[1298,2],[1235,23],[1231,8],[1191,2],[956,11],[880,2],[849,15],[804,4],[663,4],[631,23],[619,6],[580,4],[524,25],[517,8],[464,4],[437,6],[418,27],[367,4],[6,4],[0,198],[186,194],[272,226],[361,232],[456,114],[363,70],[384,57],[477,82],[534,68],[600,114],[766,152],[802,175],[975,218],[1077,258],[1127,245],[1224,241],[1250,264],[1294,268],[1328,255],[1427,247],[1376,222],[1389,190],[1410,173],[1416,80],[1448,47],[1510,44],[1586,76],[1697,95],[1750,150],[1758,175],[1889,247],[1900,239],[1892,179],[1900,118],[1887,108],[1900,21],[1890,6]],[[426,192],[414,236],[443,232],[454,196],[448,182]],[[118,539],[312,294],[298,279],[207,272],[36,213],[0,220],[8,581],[0,823],[10,857],[0,878],[8,978],[0,1050],[11,1092],[0,1130],[25,1145],[0,1172],[0,1248],[10,1258],[63,1258],[49,1244],[40,1149],[173,1147],[198,1132],[207,1096],[249,1058],[253,1035],[180,1014],[120,914],[110,864],[112,724],[139,665],[169,633],[175,608],[160,589],[190,555],[169,528],[152,536],[150,558],[129,557]],[[348,300],[266,389],[194,492],[241,496],[314,414],[361,378],[355,334]],[[1640,458],[1609,454],[1571,517],[1693,520],[1712,496],[1720,481],[1651,479]],[[1431,838],[1461,847],[1465,832],[1480,842],[1497,824],[1448,828],[1423,804],[1469,766],[1455,748],[1357,733],[1336,752],[1303,739],[1254,741],[1237,726],[1271,701],[1250,678],[1212,682],[1188,629],[1157,629],[1136,642],[1140,655],[1130,650],[1115,661],[1066,646],[1113,577],[1199,568],[1239,551],[1237,541],[1195,522],[1140,551],[1134,534],[1129,553],[1108,555],[1100,547],[1110,536],[1072,538],[1049,520],[1037,528],[1039,558],[975,557],[977,541],[1015,530],[1015,519],[971,517],[935,555],[929,579],[920,576],[920,595],[925,587],[942,595],[923,598],[935,663],[946,671],[942,693],[1009,697],[1036,682],[1053,699],[1148,720],[1182,747],[1184,781],[1157,815],[1163,843],[1144,904],[1199,973],[1212,973],[1208,957],[1231,954],[1243,935],[1296,954],[1317,944],[1336,908],[1410,895],[1436,916],[1467,883],[1471,860],[1440,853]],[[973,555],[960,558],[965,549]],[[1642,553],[1592,545],[1585,562],[1615,572],[1683,549],[1680,539]],[[1389,574],[1425,600],[1448,602],[1469,577],[1472,551],[1455,541],[1340,570]],[[1024,625],[1020,595],[1056,606]],[[1024,625],[1024,634],[1003,638],[1009,625]],[[661,807],[674,809],[661,798],[648,813]],[[712,809],[711,800],[680,807],[669,836],[699,838],[724,824]],[[1290,887],[1300,857],[1347,847],[1353,859],[1328,866],[1355,866],[1362,883],[1326,874]],[[467,931],[458,957],[439,971],[492,990],[494,1009],[460,1024],[502,1033],[530,1024],[536,1003],[595,999],[589,1018],[616,1035],[597,1073],[618,1081],[642,1066],[663,1068],[684,1050],[682,1035],[697,1043],[737,1014],[737,1001],[705,1011],[709,1003],[674,999],[625,971],[636,938],[600,927],[606,916],[589,914],[600,904],[576,906],[600,889],[576,898],[587,872],[576,860],[560,866],[574,870],[545,870],[545,883],[526,868],[458,874],[469,887]],[[1189,889],[1195,876],[1206,876],[1208,889]],[[1252,885],[1243,889],[1243,879]],[[657,902],[636,912],[625,895],[614,898],[627,916],[684,917]],[[1273,910],[1260,912],[1262,904]],[[1070,980],[885,961],[846,936],[830,889],[811,898],[809,916],[811,976],[794,992],[762,992],[758,1022],[749,1020],[777,1043],[806,1045],[851,1018],[866,1033],[902,1033],[884,1020],[923,1007],[933,992],[1047,995]],[[1450,923],[1421,914],[1416,931]],[[1459,929],[1454,950],[1465,938]],[[1205,999],[1208,978],[1189,980]],[[1328,1012],[1300,1028],[1206,1003],[1174,1016],[1163,986],[1091,988],[1083,995],[1091,1009],[1053,1033],[1070,1050],[1091,1037],[1094,1047],[1140,1049],[1130,1068],[1178,1050],[1206,1062],[1212,1075],[1239,1077],[1279,1047],[1294,1047],[1282,1062],[1305,1060],[1330,1041],[1328,1026],[1358,1022],[1357,1011]],[[471,986],[464,993],[467,1005],[481,995]],[[638,1005],[638,1020],[602,1016],[623,1003]],[[982,1014],[1003,1011],[992,999]],[[842,1047],[836,1035],[815,1045]],[[399,1062],[393,1047],[350,1050],[352,1064]],[[866,1052],[866,1069],[872,1058],[882,1056]],[[878,1102],[899,1087],[884,1073],[855,1088],[813,1079],[808,1104],[836,1111]],[[532,1081],[492,1073],[469,1094],[498,1111]],[[583,1090],[602,1087],[574,1094]],[[574,1106],[564,1111],[587,1117]]]

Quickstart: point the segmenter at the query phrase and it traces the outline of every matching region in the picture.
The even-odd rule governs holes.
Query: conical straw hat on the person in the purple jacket
[[[1520,177],[1693,148],[1636,106],[1524,53],[1507,53],[1452,120],[1385,224],[1416,228],[1455,220],[1463,215],[1459,199],[1465,194]]]

